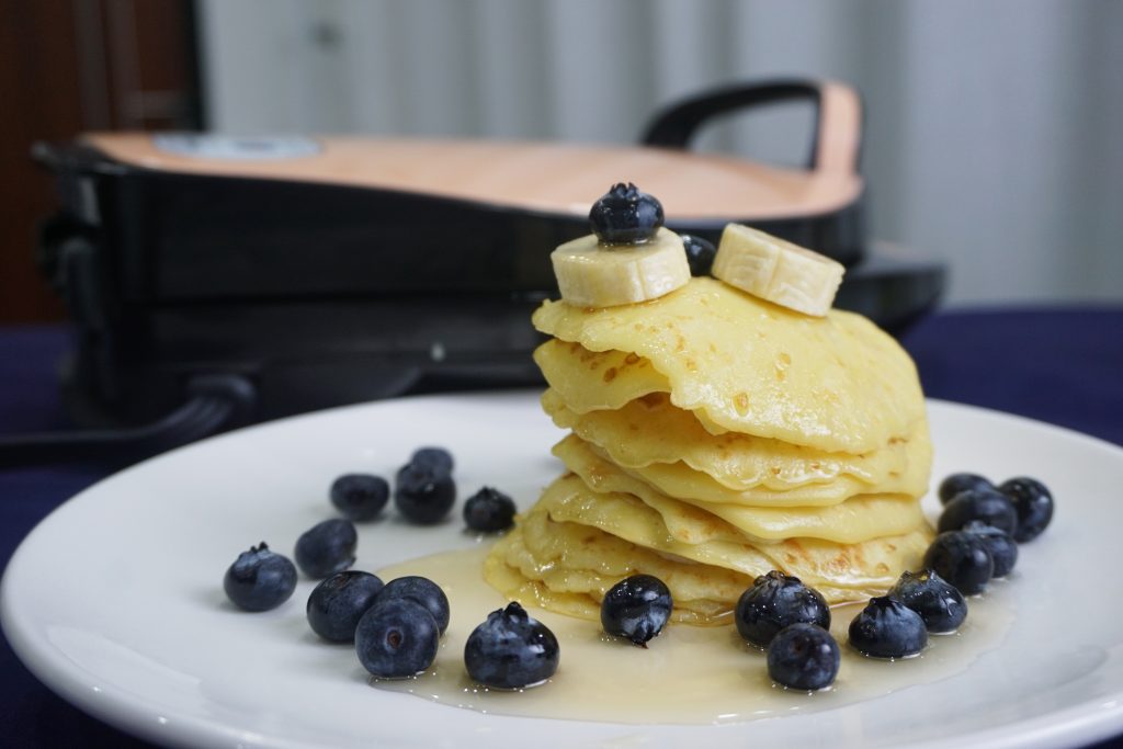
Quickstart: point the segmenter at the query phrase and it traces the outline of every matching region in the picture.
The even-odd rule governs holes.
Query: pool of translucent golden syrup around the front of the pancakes
[[[968,600],[957,633],[934,636],[914,658],[878,660],[846,641],[850,620],[864,604],[831,610],[831,632],[842,650],[834,684],[806,693],[775,686],[763,650],[746,645],[734,627],[668,624],[639,648],[601,631],[597,622],[537,608],[531,616],[549,627],[562,647],[548,683],[503,692],[474,684],[464,669],[464,643],[487,614],[506,604],[483,579],[486,548],[421,557],[378,570],[383,579],[422,575],[448,594],[451,622],[432,667],[414,678],[371,679],[381,689],[485,713],[618,723],[723,723],[795,712],[829,710],[965,672],[996,648],[1014,620],[1013,596],[995,581],[985,596]]]

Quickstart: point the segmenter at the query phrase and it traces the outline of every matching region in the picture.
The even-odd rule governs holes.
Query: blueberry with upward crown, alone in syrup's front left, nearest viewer
[[[464,645],[468,676],[497,689],[541,684],[558,668],[557,638],[512,602],[487,614]]]

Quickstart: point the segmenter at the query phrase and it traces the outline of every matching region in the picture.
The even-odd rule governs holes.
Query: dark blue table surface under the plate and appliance
[[[907,331],[928,395],[1019,413],[1123,445],[1123,308],[965,310]],[[0,433],[63,428],[56,326],[0,328]],[[0,469],[0,567],[48,512],[112,467]],[[0,642],[0,745],[147,747],[56,697]],[[1097,745],[1123,745],[1123,736]]]

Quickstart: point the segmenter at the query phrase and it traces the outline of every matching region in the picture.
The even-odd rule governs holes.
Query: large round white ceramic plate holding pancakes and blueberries
[[[537,395],[405,399],[279,421],[176,450],[77,495],[22,544],[0,591],[16,652],[48,686],[174,746],[1072,746],[1123,731],[1123,450],[996,412],[934,402],[933,475],[1029,474],[1052,527],[1023,548],[1017,620],[958,676],[857,705],[733,725],[618,725],[484,715],[369,688],[321,657],[302,582],[281,609],[237,612],[221,577],[262,539],[287,552],[331,515],[338,474],[390,473],[446,445],[462,494],[521,505],[558,473]],[[926,500],[932,502],[931,497]],[[929,508],[931,510],[931,506]],[[358,565],[467,547],[459,519],[360,529]],[[622,687],[626,685],[622,685]]]

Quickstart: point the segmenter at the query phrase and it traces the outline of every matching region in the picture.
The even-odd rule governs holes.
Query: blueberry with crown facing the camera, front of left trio
[[[413,676],[432,665],[440,631],[432,614],[410,599],[378,601],[355,628],[355,652],[382,678]]]

